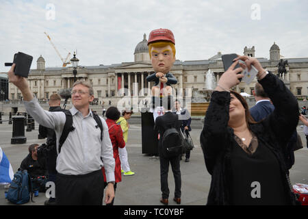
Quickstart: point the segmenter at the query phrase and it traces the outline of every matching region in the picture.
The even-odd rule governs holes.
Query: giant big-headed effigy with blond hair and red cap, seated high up
[[[169,29],[155,29],[150,33],[148,46],[155,73],[146,77],[146,81],[155,81],[151,88],[154,108],[155,99],[171,95],[170,85],[177,83],[176,77],[170,73],[170,68],[175,62],[175,37]]]

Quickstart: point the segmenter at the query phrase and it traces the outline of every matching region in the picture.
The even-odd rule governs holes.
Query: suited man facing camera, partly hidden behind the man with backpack
[[[179,120],[181,121],[181,131],[186,133],[189,136],[189,132],[192,131],[190,127],[190,123],[192,122],[192,118],[190,117],[190,112],[187,109],[181,107],[181,102],[176,99],[175,100],[175,114],[179,115]],[[185,162],[190,162],[190,150],[185,151]]]

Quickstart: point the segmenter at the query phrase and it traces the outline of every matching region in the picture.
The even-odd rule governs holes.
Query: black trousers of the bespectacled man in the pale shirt
[[[57,205],[103,205],[103,172],[97,170],[86,175],[57,173],[55,183]]]

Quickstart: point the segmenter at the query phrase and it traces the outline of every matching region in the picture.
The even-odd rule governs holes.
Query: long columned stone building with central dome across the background
[[[136,96],[143,99],[147,94],[151,94],[153,82],[146,81],[146,77],[154,73],[149,57],[146,35],[139,42],[133,53],[134,62],[122,62],[120,64],[99,65],[99,66],[78,66],[77,79],[88,80],[94,88],[94,98],[96,103],[112,103],[116,105],[123,96]],[[206,73],[208,70],[214,73],[216,81],[224,73],[221,60],[222,53],[218,52],[208,60],[180,61],[176,60],[171,73],[177,77],[178,83],[172,88],[180,95],[187,95],[188,88],[192,94],[203,92],[205,88]],[[244,48],[244,55],[255,57],[255,47]],[[277,44],[270,47],[269,59],[257,57],[261,65],[272,73],[278,73],[279,60],[287,60],[285,66],[287,74],[283,81],[290,88],[298,100],[306,99],[308,95],[308,57],[285,58],[280,55]],[[29,85],[38,99],[49,99],[53,93],[57,93],[63,88],[71,88],[74,83],[73,67],[45,68],[45,60],[40,56],[36,62],[36,69],[31,69],[29,73]],[[242,82],[233,90],[252,94],[256,79],[249,85]],[[127,89],[121,89],[127,88]],[[142,89],[144,88],[144,89]],[[149,88],[146,89],[146,88]],[[8,98],[10,100],[21,100],[21,91],[12,83],[9,83]],[[193,96],[192,96],[193,97]]]

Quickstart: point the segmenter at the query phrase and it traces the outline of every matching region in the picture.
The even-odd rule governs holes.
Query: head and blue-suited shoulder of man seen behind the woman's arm
[[[274,105],[270,103],[268,94],[264,92],[260,83],[255,83],[255,90],[253,90],[253,96],[255,96],[255,101],[257,102],[255,106],[251,107],[249,112],[256,122],[266,118],[269,114],[274,111]]]

